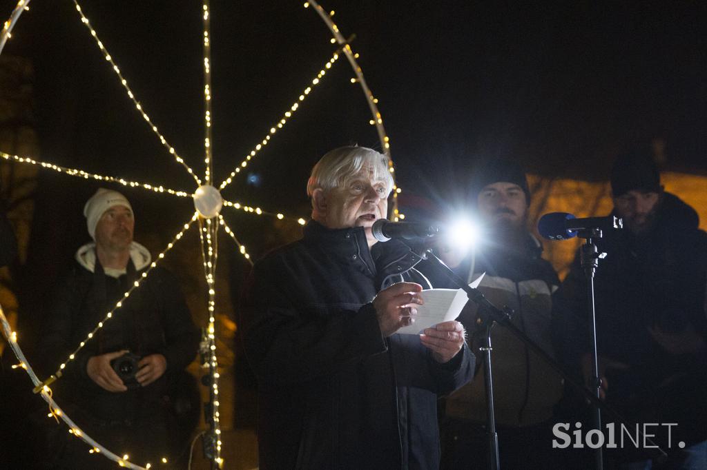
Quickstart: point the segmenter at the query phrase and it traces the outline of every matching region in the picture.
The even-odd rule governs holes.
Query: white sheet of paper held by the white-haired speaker
[[[476,289],[484,278],[484,272],[469,287]],[[425,289],[421,292],[424,305],[417,306],[415,323],[402,327],[397,333],[402,335],[419,335],[425,328],[438,323],[456,320],[467,303],[467,293],[462,289]]]

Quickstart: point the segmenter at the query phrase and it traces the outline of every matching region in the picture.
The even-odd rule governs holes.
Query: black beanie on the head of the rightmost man
[[[660,172],[648,150],[620,155],[612,167],[612,193],[619,197],[629,191],[660,193]]]

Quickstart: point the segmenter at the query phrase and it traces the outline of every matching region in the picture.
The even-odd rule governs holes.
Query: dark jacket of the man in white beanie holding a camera
[[[86,248],[86,247],[84,247]],[[149,253],[133,243],[128,272],[119,278],[103,273],[95,263],[93,248],[77,253],[78,263],[57,289],[57,295],[43,327],[38,346],[42,372],[49,375],[65,361],[124,292],[149,265]],[[86,258],[89,263],[86,263]],[[90,270],[89,270],[90,269]],[[81,405],[81,410],[100,423],[125,423],[155,411],[163,401],[168,376],[183,370],[194,359],[199,331],[192,322],[179,284],[167,270],[154,268],[123,306],[105,321],[102,329],[67,364],[64,377],[54,388],[62,399]],[[86,363],[92,356],[128,349],[138,356],[163,354],[167,371],[147,387],[114,393],[91,380]]]

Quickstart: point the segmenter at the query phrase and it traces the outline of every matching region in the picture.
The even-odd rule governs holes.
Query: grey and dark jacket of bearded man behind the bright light
[[[542,245],[530,234],[517,248],[487,243],[477,248],[472,279],[485,272],[479,284],[484,296],[499,308],[512,308],[511,322],[559,359],[556,349],[566,311],[556,294],[560,284],[557,274],[541,255]],[[467,257],[455,271],[466,279],[471,268]],[[426,265],[423,272],[435,287],[455,287],[431,265]],[[472,337],[472,347],[483,346],[484,331],[477,331],[477,306],[473,302],[467,304],[458,320]],[[551,418],[562,396],[561,376],[506,328],[493,328],[491,344],[496,423],[518,428]],[[486,408],[484,380],[474,380],[447,399],[445,411],[450,418],[486,423]]]

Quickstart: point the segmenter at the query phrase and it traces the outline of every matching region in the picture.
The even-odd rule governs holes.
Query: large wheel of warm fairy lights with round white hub
[[[52,171],[57,171],[61,174],[66,174],[69,176],[75,176],[87,180],[95,180],[95,181],[103,181],[103,182],[110,182],[110,183],[117,183],[125,187],[131,187],[131,188],[141,188],[147,191],[151,191],[154,193],[167,193],[169,195],[177,196],[180,198],[193,198],[194,199],[194,205],[197,207],[197,212],[194,212],[194,215],[192,216],[189,221],[184,224],[182,229],[173,237],[173,239],[168,243],[167,248],[163,250],[159,255],[157,256],[156,260],[154,260],[151,265],[149,265],[148,269],[145,272],[141,273],[141,276],[139,279],[137,279],[132,287],[125,292],[124,296],[122,296],[122,299],[119,299],[117,301],[115,307],[113,307],[110,311],[108,311],[105,315],[105,318],[101,320],[98,325],[95,326],[95,328],[88,333],[86,338],[79,344],[79,346],[71,353],[69,354],[69,357],[66,358],[66,360],[59,365],[59,368],[57,368],[57,371],[52,374],[49,378],[46,380],[40,380],[37,375],[35,375],[33,369],[31,368],[30,364],[28,361],[26,361],[26,358],[19,347],[18,341],[17,341],[17,332],[14,332],[11,330],[11,327],[6,321],[6,318],[4,316],[4,313],[2,312],[2,309],[0,307],[0,323],[2,324],[2,330],[4,335],[8,338],[8,342],[11,345],[11,349],[13,350],[14,354],[16,354],[19,363],[18,365],[14,366],[14,368],[22,368],[25,370],[29,375],[30,378],[33,381],[33,384],[35,385],[35,393],[40,394],[40,396],[45,399],[47,404],[49,404],[49,414],[47,416],[51,418],[61,419],[66,423],[67,426],[69,426],[69,433],[74,435],[77,438],[81,438],[81,440],[85,441],[88,446],[90,447],[90,450],[88,452],[92,454],[103,454],[103,456],[114,460],[119,464],[119,466],[124,466],[127,468],[131,469],[150,469],[151,464],[148,463],[144,467],[138,466],[134,462],[129,461],[129,455],[124,454],[122,456],[119,456],[113,452],[110,452],[110,450],[107,450],[105,447],[100,445],[98,442],[95,442],[93,438],[90,438],[90,436],[86,435],[86,433],[81,430],[80,427],[74,423],[74,421],[71,421],[71,418],[69,416],[66,416],[64,411],[59,407],[59,405],[54,401],[52,398],[52,390],[49,387],[54,381],[58,380],[59,378],[62,377],[62,373],[65,370],[66,366],[71,363],[71,361],[74,361],[76,358],[76,355],[78,354],[83,347],[86,346],[88,342],[96,335],[96,333],[103,328],[105,323],[107,321],[110,321],[115,315],[119,314],[119,309],[123,306],[125,302],[128,301],[130,295],[135,289],[139,289],[141,286],[141,283],[148,277],[149,273],[155,268],[160,260],[163,260],[165,257],[165,254],[170,251],[175,243],[179,241],[182,236],[185,234],[185,232],[191,227],[191,225],[198,221],[199,222],[199,240],[201,244],[201,255],[202,255],[202,262],[204,266],[204,278],[206,279],[206,287],[207,287],[207,292],[208,292],[208,300],[207,300],[207,308],[209,312],[209,322],[206,328],[206,356],[205,356],[205,361],[202,364],[204,368],[207,368],[209,370],[209,378],[210,378],[210,388],[209,388],[209,403],[211,404],[211,423],[209,423],[210,430],[206,433],[206,438],[211,440],[211,443],[213,444],[214,447],[214,454],[213,457],[211,457],[212,461],[214,464],[216,464],[219,468],[223,466],[223,459],[221,458],[221,448],[222,448],[222,441],[221,441],[221,426],[220,426],[220,413],[219,413],[219,397],[218,397],[218,378],[220,377],[218,373],[218,361],[217,361],[217,356],[216,356],[216,282],[215,282],[215,277],[216,277],[216,265],[217,265],[217,260],[218,260],[218,227],[221,226],[223,227],[223,230],[226,231],[226,234],[230,236],[231,239],[233,239],[233,242],[235,243],[236,246],[238,246],[238,251],[243,255],[245,260],[247,260],[248,263],[252,264],[252,258],[249,253],[247,253],[245,246],[243,243],[240,243],[238,238],[235,236],[235,232],[230,229],[228,224],[226,224],[226,220],[223,218],[223,216],[219,213],[221,210],[222,206],[225,207],[230,207],[233,210],[240,210],[243,212],[248,212],[251,214],[255,215],[267,215],[271,217],[276,217],[277,219],[291,219],[291,220],[296,220],[298,224],[304,225],[306,223],[305,219],[303,218],[298,218],[296,219],[295,217],[287,217],[281,212],[271,212],[271,211],[266,211],[262,210],[260,207],[252,207],[250,205],[242,205],[240,203],[232,203],[227,200],[223,200],[221,198],[221,195],[219,191],[223,190],[228,186],[230,183],[232,183],[233,178],[235,177],[236,174],[240,173],[241,169],[247,167],[249,162],[252,160],[253,157],[257,155],[257,153],[262,150],[269,141],[271,140],[272,136],[281,128],[285,126],[287,123],[288,119],[290,119],[295,112],[299,109],[300,104],[305,101],[305,99],[310,95],[312,90],[319,84],[321,83],[322,78],[327,74],[327,71],[332,68],[334,63],[339,59],[340,54],[343,52],[347,59],[349,60],[349,63],[351,64],[352,68],[354,69],[354,73],[356,75],[356,78],[351,78],[351,83],[359,83],[361,85],[361,88],[363,89],[364,94],[366,95],[369,107],[371,109],[373,119],[371,119],[370,123],[372,125],[375,125],[376,128],[378,129],[378,135],[381,141],[382,147],[385,149],[385,153],[390,155],[390,139],[387,137],[385,133],[385,128],[382,126],[382,117],[380,116],[380,112],[378,112],[378,107],[376,106],[378,104],[378,100],[373,97],[373,93],[370,92],[368,89],[368,85],[366,84],[366,80],[363,77],[363,71],[361,70],[361,67],[358,66],[356,63],[356,59],[358,59],[358,53],[354,53],[351,49],[351,46],[347,40],[344,39],[344,37],[341,35],[339,32],[339,28],[337,27],[336,24],[331,20],[331,17],[334,16],[334,12],[326,13],[324,9],[317,4],[315,1],[308,1],[304,4],[305,8],[308,8],[310,4],[315,7],[317,10],[317,13],[320,14],[323,20],[325,20],[325,23],[329,27],[329,30],[332,32],[332,44],[338,44],[340,45],[339,49],[337,49],[336,52],[332,54],[332,57],[325,63],[325,65],[322,67],[322,69],[317,73],[317,76],[315,78],[312,78],[310,81],[310,84],[303,90],[303,92],[300,93],[298,100],[296,100],[289,109],[284,112],[283,116],[281,119],[270,128],[269,133],[265,136],[265,138],[262,139],[260,143],[255,145],[255,147],[251,150],[251,152],[243,159],[240,164],[235,167],[235,169],[231,172],[231,174],[228,176],[228,178],[224,179],[222,183],[219,185],[218,190],[211,186],[213,184],[213,155],[212,155],[212,147],[213,147],[213,141],[212,141],[212,136],[211,136],[211,128],[213,126],[213,121],[212,121],[212,113],[211,113],[211,100],[212,100],[212,95],[211,95],[211,30],[210,30],[210,25],[211,25],[211,10],[210,10],[210,5],[209,5],[209,0],[202,0],[202,9],[201,9],[201,16],[204,24],[204,31],[203,31],[203,66],[204,66],[204,132],[205,132],[205,137],[204,137],[204,181],[202,183],[202,180],[197,176],[197,174],[194,173],[194,170],[189,167],[189,165],[185,162],[185,160],[176,152],[175,148],[168,143],[167,139],[165,136],[160,133],[158,127],[156,124],[153,122],[150,116],[148,116],[147,112],[144,110],[143,105],[139,100],[134,95],[134,92],[132,91],[132,88],[128,85],[127,79],[124,78],[122,75],[122,72],[120,71],[120,68],[117,66],[116,62],[113,60],[112,56],[110,53],[107,51],[105,45],[103,42],[99,39],[98,33],[93,29],[93,26],[91,26],[90,20],[86,17],[86,15],[83,13],[83,9],[81,6],[78,4],[77,0],[72,0],[74,3],[74,6],[76,7],[76,11],[78,12],[79,17],[81,18],[81,23],[88,28],[88,31],[90,32],[91,37],[93,37],[93,40],[95,41],[95,44],[98,46],[98,49],[100,52],[103,54],[105,60],[107,61],[108,64],[112,67],[113,72],[115,73],[115,76],[117,76],[119,82],[121,83],[122,87],[124,88],[125,92],[127,93],[127,97],[129,100],[132,101],[134,104],[135,109],[139,112],[141,117],[144,119],[144,121],[147,123],[147,125],[151,128],[151,131],[156,135],[156,137],[160,140],[160,143],[165,147],[166,150],[170,153],[170,155],[173,155],[175,162],[178,164],[182,165],[186,169],[186,171],[192,176],[194,179],[195,183],[197,183],[197,191],[194,193],[187,193],[186,191],[177,191],[171,188],[165,188],[163,186],[156,186],[156,185],[151,185],[149,183],[139,183],[136,181],[129,181],[127,179],[122,179],[122,178],[117,178],[114,176],[103,176],[99,174],[92,174],[87,171],[79,170],[79,169],[72,169],[68,167],[62,167],[57,164],[51,164],[47,162],[39,162],[33,158],[30,157],[20,157],[18,155],[11,155],[8,153],[0,152],[0,157],[2,159],[5,159],[7,161],[12,161],[12,162],[17,162],[20,164],[33,164],[45,169],[49,169]],[[16,25],[18,18],[21,16],[23,11],[28,11],[29,6],[28,4],[30,3],[30,0],[19,0],[18,4],[16,5],[16,8],[13,10],[11,13],[10,19],[8,19],[4,25],[3,28],[0,32],[0,53],[2,52],[4,45],[6,44],[6,41],[11,37],[11,31],[13,30],[14,26]],[[395,171],[395,168],[392,166],[392,162],[390,163],[390,172],[393,173]],[[203,186],[202,186],[203,185]],[[404,215],[399,214],[397,210],[397,195],[400,193],[400,189],[395,186],[394,187],[394,214],[395,214],[395,220],[402,219],[404,218]],[[206,196],[211,195],[211,200],[209,203],[207,203],[207,209],[202,210],[200,207],[204,207],[204,200],[208,199]],[[215,208],[214,208],[215,207]],[[218,222],[216,222],[216,217],[218,217]],[[166,457],[162,457],[160,461],[158,462],[162,464],[167,464],[168,460]]]

